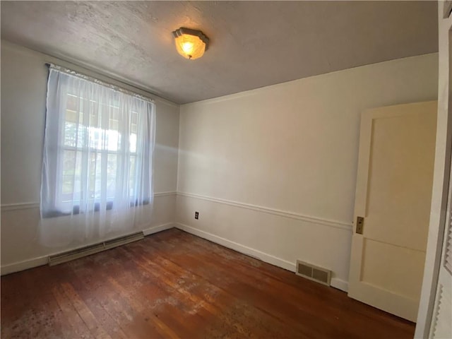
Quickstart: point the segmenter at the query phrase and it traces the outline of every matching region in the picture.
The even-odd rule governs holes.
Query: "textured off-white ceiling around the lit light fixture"
[[[203,30],[201,59],[172,30]],[[1,1],[1,38],[194,102],[437,52],[436,1]]]

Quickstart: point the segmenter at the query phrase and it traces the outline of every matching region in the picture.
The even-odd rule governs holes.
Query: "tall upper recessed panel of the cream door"
[[[415,112],[374,119],[372,128],[367,237],[425,251],[436,119]]]

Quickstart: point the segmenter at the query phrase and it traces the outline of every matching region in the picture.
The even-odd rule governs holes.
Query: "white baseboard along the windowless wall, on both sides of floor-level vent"
[[[227,247],[228,249],[233,249],[234,251],[246,254],[247,256],[258,258],[261,261],[271,263],[272,265],[278,266],[280,268],[285,268],[286,270],[290,270],[291,272],[295,273],[295,263],[291,263],[290,261],[278,258],[276,256],[272,256],[271,254],[266,254],[262,251],[258,251],[257,249],[252,249],[251,247],[244,246],[237,242],[232,242],[231,240],[225,239],[223,237],[218,237],[218,235],[198,230],[194,227],[184,225],[180,222],[176,222],[174,226],[179,230],[188,232],[190,234],[194,234],[203,239],[207,239],[210,242],[215,242],[215,244],[220,244],[222,246]],[[345,280],[331,278],[331,286],[344,292],[348,291],[348,283]]]

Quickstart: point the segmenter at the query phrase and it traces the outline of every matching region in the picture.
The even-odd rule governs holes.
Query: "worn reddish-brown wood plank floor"
[[[414,328],[176,229],[1,278],[1,338],[412,338]]]

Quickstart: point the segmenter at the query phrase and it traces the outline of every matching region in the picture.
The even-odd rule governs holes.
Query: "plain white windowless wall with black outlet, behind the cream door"
[[[304,78],[181,107],[177,222],[347,289],[359,117],[436,100],[438,54]],[[200,213],[194,220],[194,211]]]

